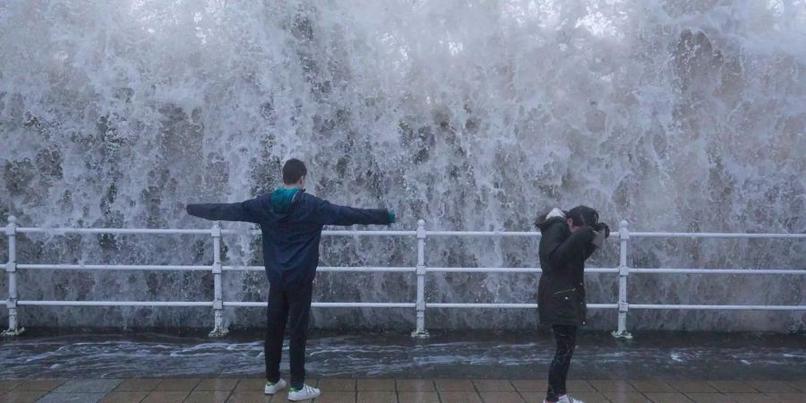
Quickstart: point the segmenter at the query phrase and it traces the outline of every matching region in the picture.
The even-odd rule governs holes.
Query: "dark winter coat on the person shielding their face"
[[[581,326],[585,324],[585,261],[596,250],[591,243],[594,231],[580,227],[571,234],[561,217],[537,224],[540,238],[540,267],[543,275],[537,286],[540,322]]]

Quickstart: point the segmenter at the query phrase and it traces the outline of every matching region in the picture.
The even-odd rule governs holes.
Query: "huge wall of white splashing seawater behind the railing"
[[[304,159],[308,191],[389,207],[393,228],[534,230],[585,203],[633,230],[806,231],[806,4],[770,1],[0,4],[0,222],[209,227]],[[248,225],[233,225],[243,229]],[[209,264],[205,236],[20,236],[20,262]],[[249,236],[232,264],[260,264]],[[407,239],[328,239],[322,265],[414,265]],[[0,236],[0,261],[7,241]],[[524,239],[430,240],[432,266],[537,265]],[[806,269],[802,241],[636,240],[634,267]],[[591,266],[615,267],[615,243]],[[321,301],[411,301],[412,275],[322,273]],[[590,275],[589,302],[613,302]],[[5,296],[6,279],[0,276]],[[20,272],[22,299],[209,301],[201,272]],[[262,273],[225,296],[265,301]],[[433,302],[530,302],[536,277],[434,274]],[[3,298],[4,299],[4,298]],[[636,275],[630,301],[806,304],[804,276]],[[0,316],[6,315],[0,308]],[[613,312],[592,311],[611,329]],[[261,326],[261,309],[227,311]],[[536,326],[525,311],[429,328]],[[210,327],[210,309],[23,307],[27,326]],[[0,318],[3,319],[3,318]],[[323,328],[411,329],[413,310],[315,310]],[[806,313],[634,312],[630,327],[804,330]]]

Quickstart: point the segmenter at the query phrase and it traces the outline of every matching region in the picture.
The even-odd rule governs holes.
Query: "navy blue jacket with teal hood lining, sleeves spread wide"
[[[272,197],[272,194],[275,197]],[[339,206],[304,191],[279,189],[237,203],[188,204],[187,212],[202,219],[246,221],[260,224],[263,264],[271,284],[298,287],[309,284],[319,265],[323,226],[388,225],[389,210],[363,210]],[[282,196],[289,195],[285,198]],[[281,197],[278,197],[281,196]]]

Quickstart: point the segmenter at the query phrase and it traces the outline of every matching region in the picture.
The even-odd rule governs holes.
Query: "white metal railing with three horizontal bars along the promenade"
[[[227,334],[224,326],[223,311],[225,307],[265,307],[264,302],[238,302],[224,301],[221,290],[221,281],[226,271],[262,271],[262,266],[228,266],[221,263],[221,236],[241,234],[231,229],[221,229],[219,223],[214,223],[210,229],[153,229],[153,228],[39,228],[18,227],[16,219],[8,219],[4,235],[8,238],[8,262],[5,271],[8,276],[8,299],[0,300],[0,304],[8,308],[8,330],[4,336],[15,336],[24,330],[19,326],[18,309],[23,305],[39,306],[210,306],[213,309],[214,328],[211,337],[220,337]],[[152,234],[152,235],[210,235],[213,243],[213,262],[211,265],[153,265],[153,264],[25,264],[17,262],[16,236],[17,234],[45,233],[53,235],[64,234]],[[250,235],[259,235],[260,231],[251,230]],[[417,261],[415,267],[320,267],[319,271],[330,272],[383,272],[383,273],[414,273],[416,276],[416,300],[410,303],[387,302],[314,302],[319,308],[415,308],[416,329],[412,332],[415,337],[427,337],[425,330],[426,308],[497,308],[497,309],[535,309],[537,304],[509,304],[509,303],[428,303],[425,301],[425,280],[428,273],[457,272],[457,273],[534,273],[539,274],[540,268],[480,268],[480,267],[427,267],[425,265],[425,241],[428,237],[436,236],[482,236],[505,237],[526,236],[539,237],[538,232],[507,232],[507,231],[427,231],[425,221],[417,221],[416,231],[356,231],[356,230],[328,230],[322,233],[325,236],[414,236],[417,241]],[[806,305],[704,305],[704,304],[629,304],[627,298],[627,280],[630,274],[747,274],[747,275],[806,275],[806,270],[778,270],[778,269],[637,269],[627,264],[628,244],[633,237],[672,237],[672,238],[783,238],[806,239],[806,234],[724,234],[724,233],[680,233],[680,232],[630,232],[627,221],[620,223],[619,231],[613,232],[619,238],[619,267],[618,268],[588,268],[587,273],[613,273],[619,275],[619,296],[612,304],[587,304],[592,309],[618,309],[617,330],[613,336],[630,338],[627,331],[627,313],[630,309],[672,309],[672,310],[748,310],[748,311],[806,311]],[[17,289],[17,270],[211,270],[213,273],[213,300],[212,301],[35,301],[23,300],[19,297]]]

